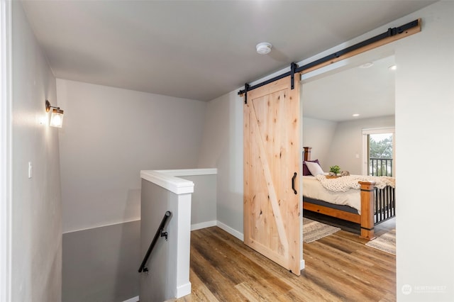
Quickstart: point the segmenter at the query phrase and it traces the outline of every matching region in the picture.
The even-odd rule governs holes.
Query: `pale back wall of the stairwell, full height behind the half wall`
[[[65,110],[62,297],[123,301],[137,296],[138,274],[131,273],[143,255],[140,242],[131,243],[139,234],[131,232],[139,230],[133,226],[140,219],[140,170],[196,167],[207,104],[64,79],[57,79],[57,95]],[[108,237],[91,241],[102,235]],[[81,247],[77,260],[88,266],[74,262],[74,250]],[[99,267],[104,274],[96,271]]]

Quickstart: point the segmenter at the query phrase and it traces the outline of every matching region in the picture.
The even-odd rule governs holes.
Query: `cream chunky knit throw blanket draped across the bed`
[[[370,177],[364,175],[349,175],[345,177],[338,177],[327,179],[325,175],[317,175],[316,178],[320,181],[321,185],[330,191],[346,192],[349,189],[360,189],[358,181],[375,181],[375,186],[378,189],[383,189],[385,186],[396,187],[396,179],[394,177]]]

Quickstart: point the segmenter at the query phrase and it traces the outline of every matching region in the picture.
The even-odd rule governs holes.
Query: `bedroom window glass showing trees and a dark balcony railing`
[[[367,136],[369,138],[369,169],[367,174],[392,176],[392,133]]]

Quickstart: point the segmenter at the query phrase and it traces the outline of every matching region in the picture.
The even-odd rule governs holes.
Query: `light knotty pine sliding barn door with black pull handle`
[[[286,77],[244,105],[244,242],[300,274],[299,84]],[[293,185],[292,185],[293,184]]]

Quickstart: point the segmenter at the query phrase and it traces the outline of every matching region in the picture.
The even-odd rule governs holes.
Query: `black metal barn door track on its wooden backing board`
[[[297,73],[307,73],[319,69],[321,67],[325,67],[331,65],[335,62],[347,59],[348,57],[353,57],[354,55],[358,55],[362,52],[367,50],[371,50],[375,47],[379,47],[385,45],[387,43],[391,43],[395,40],[399,40],[401,38],[405,38],[408,35],[413,35],[414,33],[419,33],[421,31],[421,18],[411,21],[409,23],[404,24],[403,26],[395,27],[395,28],[388,28],[388,30],[380,35],[376,35],[375,37],[369,38],[364,40],[360,43],[355,45],[349,46],[344,48],[343,50],[339,50],[337,52],[332,53],[331,55],[327,55],[326,57],[322,57],[319,60],[315,60],[314,62],[308,63],[301,67],[294,62],[290,64],[290,71],[285,72],[284,74],[280,74],[277,77],[273,77],[272,79],[267,79],[264,82],[259,84],[255,84],[254,86],[250,86],[250,84],[246,83],[244,85],[244,89],[238,91],[238,95],[244,95],[244,103],[248,104],[248,91],[253,89],[257,89],[261,86],[265,86],[272,82],[277,81],[278,79],[282,79],[284,77],[290,77],[292,89],[294,89],[294,74]]]

